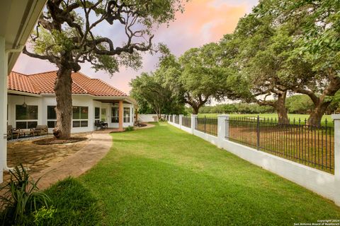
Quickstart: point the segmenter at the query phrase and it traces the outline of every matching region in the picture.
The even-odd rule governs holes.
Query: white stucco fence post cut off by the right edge
[[[340,206],[340,114],[332,114],[334,119],[334,203]]]

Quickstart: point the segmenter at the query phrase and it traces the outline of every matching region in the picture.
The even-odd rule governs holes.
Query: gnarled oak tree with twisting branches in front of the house
[[[181,0],[48,0],[30,39],[33,52],[24,54],[58,67],[55,81],[55,135],[69,138],[72,120],[72,71],[89,62],[93,68],[115,73],[120,65],[138,68],[139,52],[152,49],[152,28],[174,19]],[[98,34],[98,25],[117,25],[125,34],[120,46]],[[110,29],[110,27],[106,27]]]

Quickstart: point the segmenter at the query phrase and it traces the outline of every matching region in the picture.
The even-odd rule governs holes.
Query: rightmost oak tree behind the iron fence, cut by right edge
[[[340,4],[333,0],[261,1],[256,17],[271,16],[271,25],[288,31],[285,85],[308,95],[313,109],[307,124],[320,126],[323,114],[340,89]],[[284,43],[283,43],[284,44]]]

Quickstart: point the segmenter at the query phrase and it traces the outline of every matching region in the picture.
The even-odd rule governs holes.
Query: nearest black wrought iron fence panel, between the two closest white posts
[[[308,126],[306,120],[278,124],[276,119],[229,117],[230,141],[334,173],[334,124]]]

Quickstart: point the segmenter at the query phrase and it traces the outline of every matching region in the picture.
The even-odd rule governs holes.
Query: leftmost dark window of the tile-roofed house
[[[30,129],[38,124],[38,106],[36,105],[16,105],[16,128]]]

